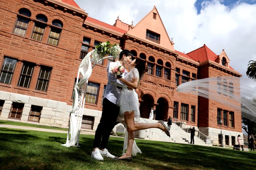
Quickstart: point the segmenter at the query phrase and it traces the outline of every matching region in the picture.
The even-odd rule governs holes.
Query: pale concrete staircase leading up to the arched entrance
[[[145,118],[140,118],[140,123],[156,123],[158,121],[156,120],[149,120]],[[167,126],[167,122],[165,122],[165,125]],[[182,129],[180,126],[176,123],[172,123],[170,128],[170,135],[169,138],[165,132],[163,132],[160,129],[157,128],[150,128],[146,129],[144,131],[146,132],[146,138],[147,140],[153,140],[153,141],[165,141],[165,142],[176,142],[176,143],[184,143],[189,144],[190,143],[190,131],[187,133],[187,129]],[[197,132],[197,131],[196,131]],[[135,136],[140,136],[139,133],[135,133]],[[197,145],[204,145],[204,146],[212,146],[212,144],[206,144],[205,139],[201,139],[198,137],[198,135],[195,135],[194,137],[195,144]]]

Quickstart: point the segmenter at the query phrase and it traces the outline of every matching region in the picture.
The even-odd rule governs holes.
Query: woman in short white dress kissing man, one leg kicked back
[[[143,60],[137,58],[129,64],[130,72],[125,75],[124,78],[117,77],[120,81],[127,85],[129,88],[123,88],[121,90],[117,105],[120,106],[119,117],[124,117],[126,123],[128,137],[127,137],[127,150],[125,155],[115,158],[117,160],[131,161],[132,148],[134,142],[134,131],[148,129],[148,128],[158,128],[164,131],[168,136],[170,132],[163,121],[158,121],[158,123],[136,123],[134,118],[140,117],[139,110],[139,99],[138,95],[134,89],[137,89],[140,84],[140,79],[147,68],[145,68],[145,63]],[[131,89],[133,90],[131,90]]]

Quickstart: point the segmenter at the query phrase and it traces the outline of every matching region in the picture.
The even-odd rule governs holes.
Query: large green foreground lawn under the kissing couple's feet
[[[0,167],[49,170],[222,170],[252,169],[256,152],[136,139],[142,154],[132,162],[90,158],[94,135],[80,135],[80,147],[66,148],[66,134],[0,128]],[[123,138],[110,137],[108,149],[120,156]]]

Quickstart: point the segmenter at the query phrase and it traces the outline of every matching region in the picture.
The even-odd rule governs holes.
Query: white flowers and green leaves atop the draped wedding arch
[[[112,55],[112,57],[115,59],[118,58],[121,51],[122,49],[120,49],[119,44],[112,45],[109,41],[107,41],[95,46],[95,49],[91,53],[91,57],[95,63],[98,63],[98,61],[108,55]]]

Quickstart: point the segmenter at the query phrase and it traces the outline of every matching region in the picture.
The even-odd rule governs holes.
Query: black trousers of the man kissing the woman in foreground
[[[95,132],[93,148],[106,148],[110,132],[116,125],[118,114],[119,107],[105,97],[102,104],[101,120]]]

